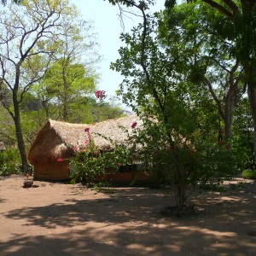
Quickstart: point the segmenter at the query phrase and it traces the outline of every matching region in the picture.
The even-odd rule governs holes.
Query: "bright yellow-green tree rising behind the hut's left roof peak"
[[[68,121],[71,106],[80,96],[89,96],[96,90],[96,75],[82,64],[71,64],[68,59],[55,61],[38,85],[38,98],[49,118],[49,104],[55,103],[57,118]],[[53,105],[51,105],[53,106]],[[56,112],[56,110],[55,110]]]

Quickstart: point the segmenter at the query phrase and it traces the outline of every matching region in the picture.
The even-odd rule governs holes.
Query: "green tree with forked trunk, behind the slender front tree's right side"
[[[160,15],[159,30],[163,44],[177,44],[177,38],[179,44],[183,42],[188,79],[197,90],[211,93],[224,120],[221,133],[231,141],[233,108],[245,93],[244,73],[240,61],[232,56],[234,43],[218,35],[220,18],[206,4],[184,3]]]

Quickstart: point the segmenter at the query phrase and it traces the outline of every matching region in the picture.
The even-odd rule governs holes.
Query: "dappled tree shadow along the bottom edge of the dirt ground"
[[[45,236],[14,236],[1,256],[30,255],[255,255],[253,239],[234,232],[166,224],[134,225],[102,232],[97,227]]]

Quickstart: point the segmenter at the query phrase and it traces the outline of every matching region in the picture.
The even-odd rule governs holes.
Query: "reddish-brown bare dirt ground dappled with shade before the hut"
[[[256,187],[195,193],[204,210],[164,216],[160,189],[113,188],[0,177],[0,255],[256,255]],[[232,183],[245,182],[236,178]]]

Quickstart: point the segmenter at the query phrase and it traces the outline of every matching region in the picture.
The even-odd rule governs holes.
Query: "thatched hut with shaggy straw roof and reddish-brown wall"
[[[122,128],[132,131],[131,125],[137,123],[137,127],[143,125],[143,121],[137,115],[131,115],[120,119],[110,119],[93,125],[70,124],[49,119],[38,132],[38,136],[32,143],[28,153],[28,160],[34,166],[34,178],[38,180],[64,180],[69,178],[68,161],[58,162],[58,158],[69,159],[74,153],[73,147],[81,147],[91,137],[98,148],[112,148],[108,137],[117,143],[124,143],[127,137]]]

